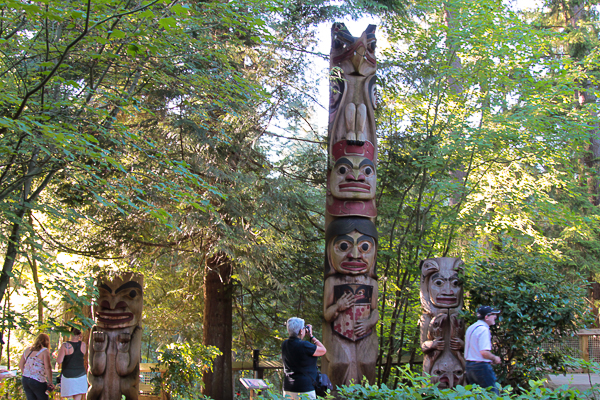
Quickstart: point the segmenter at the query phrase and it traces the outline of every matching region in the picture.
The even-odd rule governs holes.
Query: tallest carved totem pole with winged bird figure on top
[[[334,387],[375,380],[377,229],[375,25],[331,29],[322,370]]]

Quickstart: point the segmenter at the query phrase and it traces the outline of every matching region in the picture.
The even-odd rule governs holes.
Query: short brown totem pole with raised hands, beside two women
[[[137,400],[142,348],[143,276],[98,279],[92,306],[96,325],[88,346],[88,400]]]

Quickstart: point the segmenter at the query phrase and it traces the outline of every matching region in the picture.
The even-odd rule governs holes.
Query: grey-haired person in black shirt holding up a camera
[[[301,318],[288,319],[287,330],[289,338],[281,346],[285,374],[283,395],[292,400],[300,399],[300,394],[316,399],[314,384],[319,375],[317,357],[327,353],[327,349],[313,336],[312,326],[305,326]],[[302,340],[307,333],[310,342]]]

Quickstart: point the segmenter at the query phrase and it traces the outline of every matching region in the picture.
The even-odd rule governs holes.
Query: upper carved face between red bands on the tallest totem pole
[[[375,164],[366,157],[345,156],[335,162],[329,182],[333,197],[370,200],[375,197]]]

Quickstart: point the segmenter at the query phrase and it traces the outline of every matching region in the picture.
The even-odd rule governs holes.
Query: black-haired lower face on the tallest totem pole
[[[362,275],[375,266],[375,239],[358,231],[335,236],[329,242],[329,262],[340,274]]]

